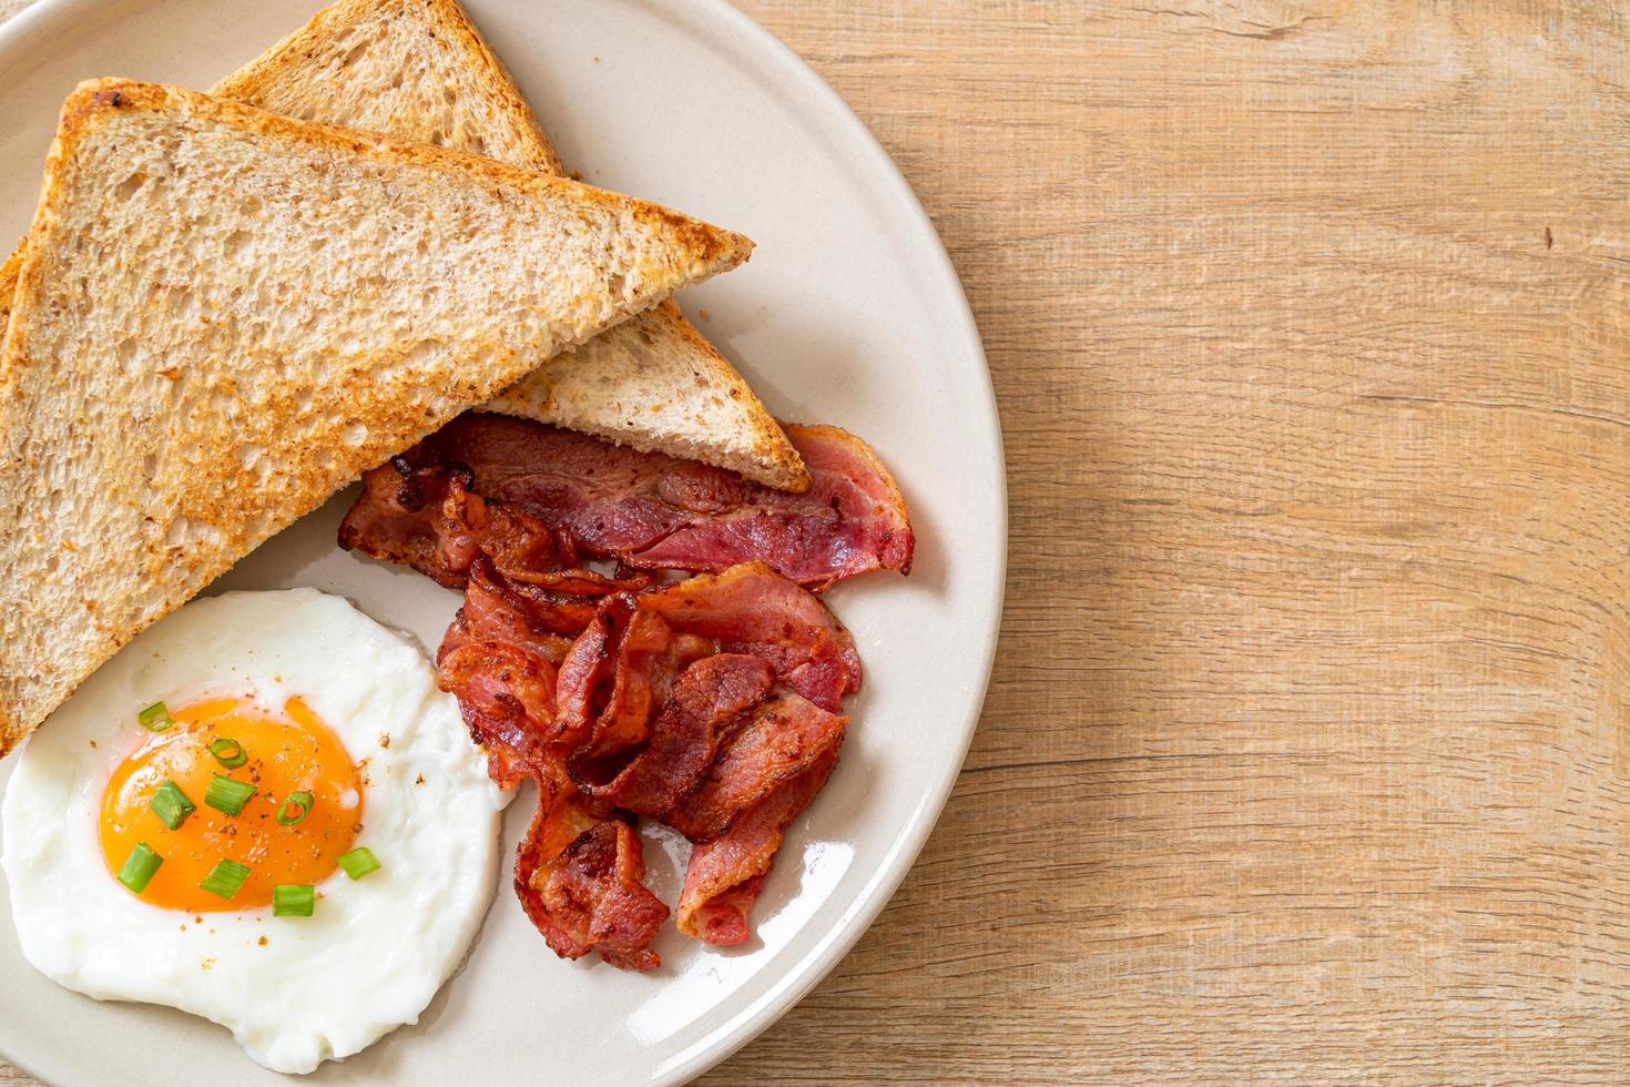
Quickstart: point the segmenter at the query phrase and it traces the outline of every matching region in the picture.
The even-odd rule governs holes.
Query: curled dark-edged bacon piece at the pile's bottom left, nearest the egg
[[[554,774],[538,781],[538,812],[515,852],[515,895],[549,948],[588,952],[624,970],[655,970],[650,950],[668,908],[644,887],[645,857],[628,821],[603,815]]]

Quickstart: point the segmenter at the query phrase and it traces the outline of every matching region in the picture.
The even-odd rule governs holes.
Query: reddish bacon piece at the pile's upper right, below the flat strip
[[[763,562],[701,574],[639,596],[676,631],[711,637],[727,654],[751,654],[776,680],[822,709],[861,689],[854,639],[818,598]]]

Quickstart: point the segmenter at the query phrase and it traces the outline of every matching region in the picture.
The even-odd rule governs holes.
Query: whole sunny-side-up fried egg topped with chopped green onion
[[[456,970],[500,807],[417,647],[311,588],[227,593],[148,627],[28,740],[0,865],[51,979],[310,1072],[416,1022]]]

